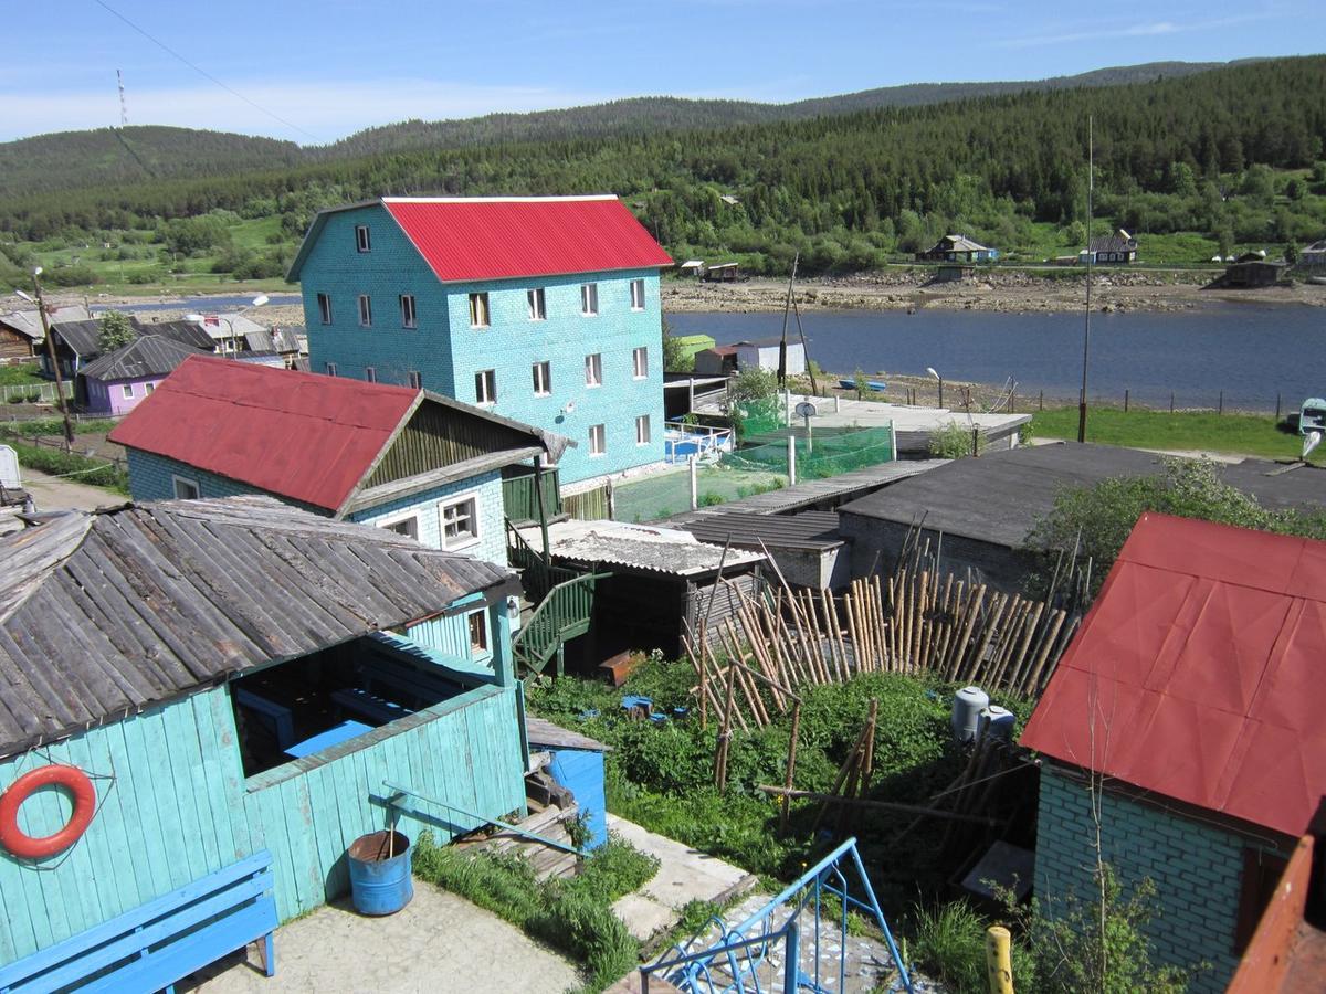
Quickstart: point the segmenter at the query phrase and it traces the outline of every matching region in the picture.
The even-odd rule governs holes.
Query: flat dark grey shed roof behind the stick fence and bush
[[[957,459],[928,473],[845,504],[842,516],[862,516],[991,542],[1022,546],[1036,520],[1054,508],[1055,494],[1070,486],[1091,486],[1120,476],[1152,476],[1164,470],[1164,456],[1113,445],[1024,445],[980,459]],[[1254,493],[1264,506],[1309,504],[1326,506],[1326,470],[1265,476],[1277,468],[1264,460],[1221,467],[1232,486]],[[1286,504],[1285,501],[1289,501]]]

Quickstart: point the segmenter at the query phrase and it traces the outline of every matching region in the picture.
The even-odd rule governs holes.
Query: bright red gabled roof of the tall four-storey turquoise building
[[[602,196],[382,197],[381,204],[442,282],[566,276],[672,265],[621,200]],[[294,257],[289,281],[317,243],[324,211]]]

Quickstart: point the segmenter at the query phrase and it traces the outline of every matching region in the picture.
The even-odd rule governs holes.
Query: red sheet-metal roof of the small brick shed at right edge
[[[1326,794],[1326,542],[1143,514],[1022,745],[1290,835]]]

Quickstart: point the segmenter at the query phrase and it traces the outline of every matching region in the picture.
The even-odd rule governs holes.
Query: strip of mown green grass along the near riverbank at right
[[[1032,433],[1041,439],[1077,439],[1075,407],[1041,411],[1032,419]],[[1128,411],[1094,407],[1087,414],[1086,440],[1140,449],[1228,452],[1261,459],[1298,459],[1302,439],[1282,432],[1269,415],[1217,415],[1212,411]],[[1318,449],[1311,461],[1321,464]]]

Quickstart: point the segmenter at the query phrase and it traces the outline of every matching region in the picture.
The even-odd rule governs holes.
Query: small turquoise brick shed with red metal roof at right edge
[[[1323,590],[1326,542],[1142,516],[1021,738],[1042,913],[1097,900],[1102,859],[1154,883],[1158,958],[1225,990],[1326,795]]]

